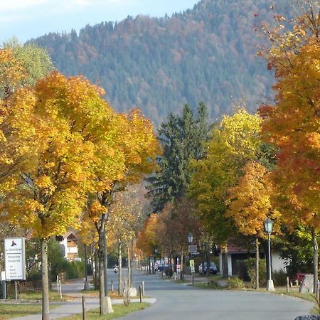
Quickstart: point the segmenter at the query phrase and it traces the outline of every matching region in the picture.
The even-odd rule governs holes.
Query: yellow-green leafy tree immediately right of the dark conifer
[[[214,127],[204,159],[193,161],[194,174],[188,190],[196,215],[222,244],[234,234],[233,220],[226,213],[228,188],[235,186],[247,162],[255,160],[260,147],[260,122],[257,115],[240,108],[224,116]]]

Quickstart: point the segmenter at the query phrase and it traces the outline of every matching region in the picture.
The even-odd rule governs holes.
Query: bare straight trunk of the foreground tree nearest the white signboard
[[[48,240],[41,239],[42,320],[49,320]]]

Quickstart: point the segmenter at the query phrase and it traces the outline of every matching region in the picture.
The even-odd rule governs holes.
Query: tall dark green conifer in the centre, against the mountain
[[[191,176],[190,161],[204,155],[203,142],[208,140],[209,132],[208,110],[203,102],[198,107],[198,119],[191,107],[184,105],[181,116],[170,114],[161,124],[159,141],[163,154],[159,158],[159,171],[148,179],[147,186],[155,212],[186,194]]]

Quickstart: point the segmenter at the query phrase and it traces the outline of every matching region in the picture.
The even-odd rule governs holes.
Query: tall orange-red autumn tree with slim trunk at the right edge
[[[265,58],[274,70],[274,105],[260,107],[265,118],[265,141],[277,147],[277,206],[289,228],[309,230],[314,245],[314,292],[318,274],[320,230],[320,107],[319,107],[319,1],[302,1],[302,15],[287,30],[285,18],[277,16],[278,28],[265,32],[270,38]]]

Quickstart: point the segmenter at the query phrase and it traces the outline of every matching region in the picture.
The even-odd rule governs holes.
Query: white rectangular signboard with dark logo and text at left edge
[[[4,239],[6,280],[26,279],[25,238]]]

